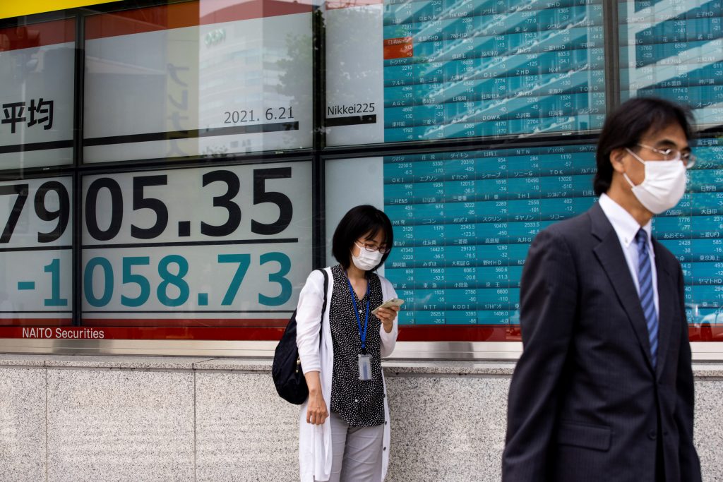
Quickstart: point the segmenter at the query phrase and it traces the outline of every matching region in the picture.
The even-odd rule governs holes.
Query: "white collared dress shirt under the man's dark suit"
[[[600,196],[600,207],[602,212],[607,216],[612,228],[615,229],[617,238],[620,240],[620,246],[623,247],[625,261],[628,262],[628,270],[630,276],[633,277],[633,283],[640,296],[640,283],[638,283],[638,244],[635,241],[635,235],[641,226],[638,221],[630,215],[630,212],[623,209],[622,206],[613,201],[607,194]],[[655,313],[660,317],[659,301],[658,301],[658,273],[655,270],[655,252],[653,251],[653,241],[651,238],[652,221],[648,221],[643,229],[648,233],[648,254],[651,262],[651,273],[653,275],[653,298],[655,301]]]

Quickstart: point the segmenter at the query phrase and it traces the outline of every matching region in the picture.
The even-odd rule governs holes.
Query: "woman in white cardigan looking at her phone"
[[[380,309],[376,316],[371,311],[396,297],[391,283],[374,273],[392,244],[384,212],[354,207],[334,232],[339,264],[325,268],[326,313],[320,272],[313,271],[301,289],[296,344],[309,386],[299,416],[302,482],[377,482],[386,476],[389,407],[380,361],[394,350],[399,309]]]

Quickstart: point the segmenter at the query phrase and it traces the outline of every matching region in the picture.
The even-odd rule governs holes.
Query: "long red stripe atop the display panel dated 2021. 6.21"
[[[92,15],[85,20],[85,38],[93,40],[312,11],[310,4],[278,0],[249,0],[205,12],[207,8],[200,7],[198,1],[188,1],[181,4]]]

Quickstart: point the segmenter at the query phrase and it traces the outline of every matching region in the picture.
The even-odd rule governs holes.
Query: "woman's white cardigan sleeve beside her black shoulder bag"
[[[299,304],[296,306],[296,347],[299,348],[301,370],[321,371],[319,356],[319,330],[322,323],[324,304],[324,275],[314,270],[301,288]]]

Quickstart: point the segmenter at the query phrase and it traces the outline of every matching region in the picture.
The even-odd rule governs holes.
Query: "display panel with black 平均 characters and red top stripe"
[[[75,21],[0,28],[0,169],[73,161]]]

